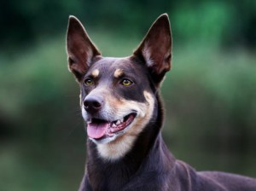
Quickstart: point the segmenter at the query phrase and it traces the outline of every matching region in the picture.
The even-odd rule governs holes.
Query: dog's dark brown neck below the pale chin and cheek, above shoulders
[[[106,188],[107,185],[109,190],[118,190],[131,180],[131,177],[139,174],[145,165],[149,171],[154,171],[155,164],[157,168],[164,165],[163,155],[168,159],[168,163],[174,164],[175,159],[166,148],[160,133],[163,110],[158,95],[156,100],[154,119],[147,124],[145,130],[137,137],[131,151],[122,159],[116,161],[102,159],[98,155],[96,144],[88,140],[86,176],[90,179],[93,190],[102,190],[101,188]]]

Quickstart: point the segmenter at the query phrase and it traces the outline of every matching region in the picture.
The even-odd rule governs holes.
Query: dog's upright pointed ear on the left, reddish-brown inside
[[[68,68],[79,82],[90,67],[92,59],[96,55],[101,55],[91,42],[84,26],[74,16],[70,16],[68,20],[67,55]]]

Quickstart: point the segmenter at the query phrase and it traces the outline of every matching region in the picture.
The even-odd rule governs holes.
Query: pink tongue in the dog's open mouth
[[[99,139],[105,135],[105,132],[108,130],[108,123],[87,123],[87,135],[90,138]]]

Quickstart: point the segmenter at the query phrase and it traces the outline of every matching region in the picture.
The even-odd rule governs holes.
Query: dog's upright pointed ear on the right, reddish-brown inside
[[[154,21],[134,55],[143,57],[156,86],[171,69],[172,32],[167,14]]]

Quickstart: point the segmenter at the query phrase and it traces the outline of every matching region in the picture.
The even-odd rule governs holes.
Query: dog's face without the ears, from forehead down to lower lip
[[[85,73],[81,106],[92,141],[112,142],[151,115],[154,98],[147,72],[139,73],[145,68],[134,62],[132,58],[101,58]]]

